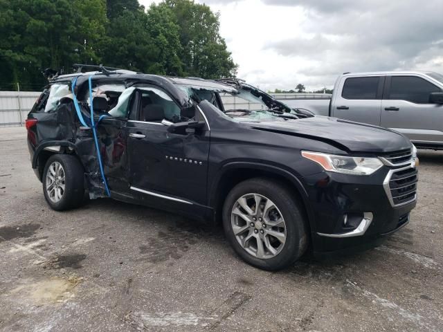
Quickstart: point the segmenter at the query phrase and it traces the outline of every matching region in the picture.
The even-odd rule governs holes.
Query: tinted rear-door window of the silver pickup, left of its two
[[[341,96],[345,99],[377,99],[380,77],[350,77],[345,80]]]

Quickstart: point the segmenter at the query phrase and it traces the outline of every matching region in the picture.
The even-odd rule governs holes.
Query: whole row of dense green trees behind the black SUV
[[[147,10],[137,0],[0,0],[0,8],[0,89],[41,89],[44,68],[69,73],[75,62],[205,78],[237,70],[218,14],[192,0]]]

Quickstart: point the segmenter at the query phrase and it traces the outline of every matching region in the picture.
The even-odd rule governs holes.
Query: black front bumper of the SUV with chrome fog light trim
[[[383,167],[372,176],[321,172],[305,177],[314,252],[377,245],[383,235],[404,227],[417,200],[393,204],[386,190],[391,175],[392,168]]]

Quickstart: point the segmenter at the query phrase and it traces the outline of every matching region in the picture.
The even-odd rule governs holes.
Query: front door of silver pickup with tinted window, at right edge
[[[390,75],[383,95],[381,126],[404,133],[414,142],[443,142],[443,106],[429,96],[442,92],[419,75]]]

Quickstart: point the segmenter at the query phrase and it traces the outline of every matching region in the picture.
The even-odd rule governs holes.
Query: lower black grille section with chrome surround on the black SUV
[[[413,167],[391,169],[384,182],[391,205],[404,205],[417,198],[417,169]]]

